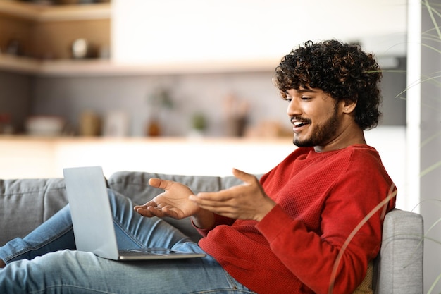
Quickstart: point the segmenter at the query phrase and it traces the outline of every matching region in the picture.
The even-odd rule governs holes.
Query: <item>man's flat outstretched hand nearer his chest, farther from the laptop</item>
[[[238,169],[233,169],[232,173],[244,184],[219,192],[200,192],[190,195],[190,200],[215,214],[232,219],[261,221],[275,207],[275,202],[266,195],[255,176]]]

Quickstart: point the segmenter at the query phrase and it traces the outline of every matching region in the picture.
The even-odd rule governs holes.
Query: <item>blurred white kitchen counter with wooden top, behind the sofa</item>
[[[233,167],[265,173],[295,149],[292,137],[0,136],[0,178],[62,177],[68,166],[228,176]]]

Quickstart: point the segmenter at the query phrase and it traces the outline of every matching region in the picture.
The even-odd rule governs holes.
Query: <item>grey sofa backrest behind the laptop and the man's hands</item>
[[[161,190],[152,188],[149,178],[164,178],[189,185],[194,193],[229,188],[240,183],[234,177],[178,176],[120,171],[108,178],[109,188],[144,204]],[[0,180],[0,246],[15,237],[24,237],[68,203],[63,178]],[[197,241],[199,233],[190,221],[166,219]]]

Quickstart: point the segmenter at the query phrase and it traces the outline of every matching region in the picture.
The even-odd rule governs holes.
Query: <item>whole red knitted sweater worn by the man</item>
[[[317,153],[298,148],[261,178],[277,205],[259,223],[216,216],[199,245],[257,293],[352,293],[380,250],[383,209],[344,242],[394,189],[367,145]],[[395,198],[386,211],[395,207]],[[339,267],[335,260],[342,251]]]

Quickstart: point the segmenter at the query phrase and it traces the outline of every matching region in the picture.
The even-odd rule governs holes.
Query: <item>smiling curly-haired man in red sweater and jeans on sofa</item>
[[[8,264],[0,292],[353,293],[371,279],[383,217],[395,206],[392,180],[364,139],[380,116],[380,78],[373,56],[357,46],[306,42],[282,59],[274,78],[299,148],[260,181],[234,169],[243,185],[193,195],[180,183],[151,179],[164,192],[136,206],[137,213],[130,200],[109,192],[121,246],[207,257],[123,263],[54,252],[75,249],[66,207],[0,248]],[[204,238],[192,243],[153,216],[191,216]]]

